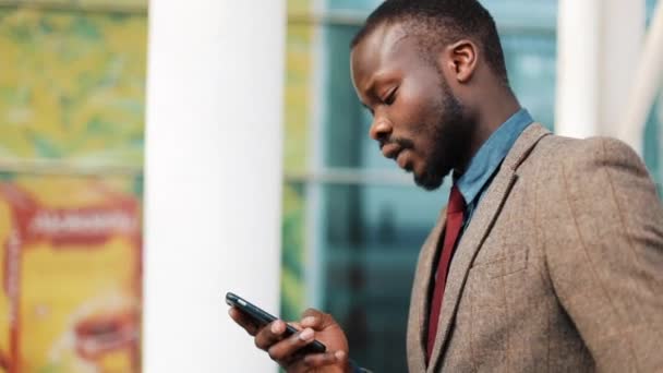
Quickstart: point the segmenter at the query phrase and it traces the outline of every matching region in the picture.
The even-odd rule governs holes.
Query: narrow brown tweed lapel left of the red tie
[[[425,353],[427,341],[429,290],[432,286],[433,264],[439,244],[439,239],[446,224],[446,207],[439,214],[437,222],[422,245],[410,304],[408,321],[408,357],[410,372],[424,372],[426,368]]]

